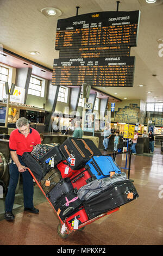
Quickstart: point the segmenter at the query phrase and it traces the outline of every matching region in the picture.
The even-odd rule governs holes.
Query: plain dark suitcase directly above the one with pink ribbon
[[[47,194],[49,200],[54,205],[56,200],[59,199],[64,194],[73,191],[73,186],[69,178],[60,179],[58,184],[53,187],[53,189]]]

